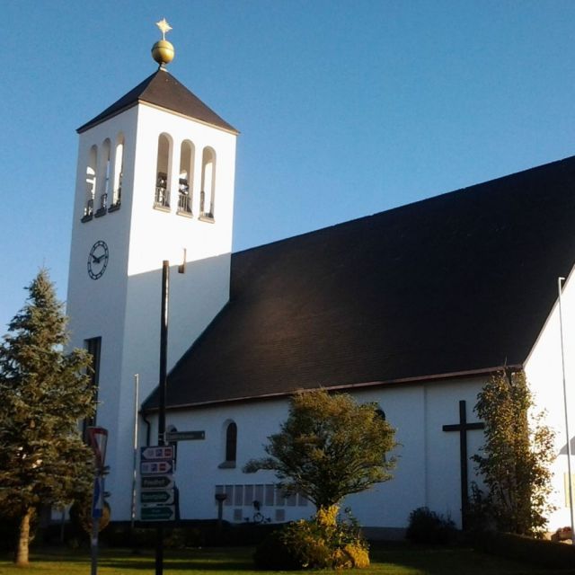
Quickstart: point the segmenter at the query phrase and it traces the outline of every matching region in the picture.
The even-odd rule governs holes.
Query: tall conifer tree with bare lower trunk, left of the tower
[[[0,511],[18,519],[15,562],[29,561],[31,519],[90,490],[93,454],[79,432],[94,398],[83,349],[65,352],[66,316],[47,270],[0,345]]]

